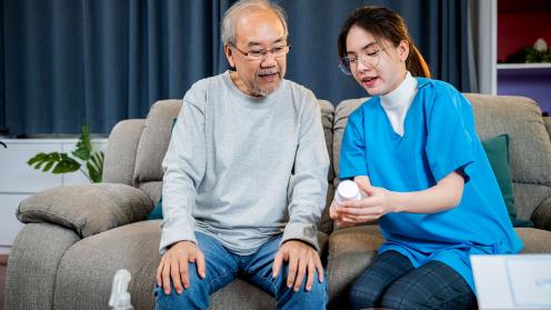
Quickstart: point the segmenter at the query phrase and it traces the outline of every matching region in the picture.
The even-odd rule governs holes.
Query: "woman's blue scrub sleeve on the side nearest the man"
[[[368,176],[365,131],[361,108],[350,114],[341,142],[340,178]]]

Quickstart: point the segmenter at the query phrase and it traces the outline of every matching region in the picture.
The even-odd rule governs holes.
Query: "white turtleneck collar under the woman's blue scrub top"
[[[401,137],[403,137],[403,121],[415,93],[417,79],[411,77],[410,72],[405,72],[405,79],[397,89],[388,94],[380,96],[382,108],[392,124],[392,129]]]

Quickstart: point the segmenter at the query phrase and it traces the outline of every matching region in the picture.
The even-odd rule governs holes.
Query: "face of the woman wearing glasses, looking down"
[[[409,46],[394,47],[389,40],[377,41],[371,32],[352,26],[347,36],[347,56],[354,79],[370,96],[388,94],[405,78]]]

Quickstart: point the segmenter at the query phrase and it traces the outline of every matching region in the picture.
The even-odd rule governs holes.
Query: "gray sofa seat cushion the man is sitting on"
[[[129,292],[134,309],[154,309],[160,238],[160,221],[156,220],[119,227],[77,242],[61,259],[53,308],[80,309],[81,304],[93,304],[106,309],[114,272],[124,268],[132,276]],[[327,237],[320,233],[318,238],[324,248]],[[239,280],[213,293],[210,300],[212,309],[270,309],[274,304],[271,296]],[[240,303],[236,303],[238,300]]]

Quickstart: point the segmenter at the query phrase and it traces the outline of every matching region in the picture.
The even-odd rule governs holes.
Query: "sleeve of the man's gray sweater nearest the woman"
[[[318,224],[325,206],[329,154],[318,101],[311,92],[305,100],[289,181],[289,223],[281,242],[297,239],[319,250]]]

